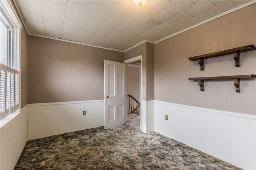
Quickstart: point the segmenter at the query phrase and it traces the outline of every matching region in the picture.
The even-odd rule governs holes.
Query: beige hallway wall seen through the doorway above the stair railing
[[[140,68],[128,66],[126,73],[127,95],[140,101]]]

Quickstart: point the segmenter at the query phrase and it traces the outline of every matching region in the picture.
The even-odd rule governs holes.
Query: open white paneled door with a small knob
[[[104,60],[105,129],[125,123],[125,68],[124,63]]]

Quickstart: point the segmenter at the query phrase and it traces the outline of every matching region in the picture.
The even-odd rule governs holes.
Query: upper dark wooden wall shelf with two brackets
[[[235,59],[235,65],[236,65],[236,67],[239,67],[240,66],[240,53],[245,52],[245,51],[252,51],[252,50],[255,50],[255,49],[256,48],[255,48],[254,45],[246,45],[246,46],[243,46],[243,47],[237,47],[237,48],[227,49],[227,50],[224,50],[224,51],[218,51],[218,52],[215,52],[215,53],[209,53],[209,54],[204,54],[204,55],[198,55],[198,56],[195,56],[195,57],[189,57],[189,60],[191,60],[191,61],[197,61],[198,60],[198,64],[200,65],[200,69],[204,70],[204,59],[233,54],[234,59]]]

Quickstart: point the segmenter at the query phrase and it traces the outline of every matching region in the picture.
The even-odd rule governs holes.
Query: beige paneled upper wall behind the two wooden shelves
[[[189,77],[256,74],[256,51],[240,54],[240,67],[232,55],[206,59],[204,71],[188,58],[256,45],[256,4],[252,4],[155,44],[155,99],[196,107],[256,115],[256,80],[241,79],[241,92],[233,81],[205,81],[200,91]]]

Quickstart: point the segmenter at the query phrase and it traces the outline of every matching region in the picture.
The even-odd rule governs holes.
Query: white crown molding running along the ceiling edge
[[[219,17],[221,17],[221,16],[224,16],[224,15],[226,15],[226,14],[229,14],[229,13],[231,13],[231,12],[234,12],[234,11],[236,11],[236,10],[239,10],[239,9],[241,9],[241,8],[244,8],[244,7],[249,6],[249,5],[251,5],[251,4],[254,4],[254,3],[256,3],[256,0],[252,0],[252,1],[248,2],[248,3],[246,3],[246,4],[243,4],[243,5],[241,5],[241,6],[238,6],[238,7],[236,7],[236,8],[233,8],[232,10],[226,11],[226,12],[224,12],[224,13],[222,13],[222,14],[219,14],[219,15],[217,15],[217,16],[215,16],[215,17],[212,17],[212,18],[210,18],[210,19],[208,19],[208,20],[205,20],[205,21],[203,21],[203,22],[200,22],[200,23],[198,23],[198,24],[195,24],[194,26],[191,26],[191,27],[189,27],[189,28],[186,28],[186,29],[181,30],[181,31],[179,31],[179,32],[176,32],[176,33],[174,33],[174,34],[171,34],[170,36],[166,36],[165,38],[162,38],[162,39],[160,39],[160,40],[158,40],[158,41],[156,41],[156,42],[150,42],[150,41],[148,41],[148,40],[144,40],[144,41],[142,41],[142,42],[140,42],[140,43],[138,43],[138,44],[136,44],[136,45],[134,45],[134,46],[132,46],[132,47],[130,47],[130,48],[124,50],[124,51],[118,50],[118,49],[111,49],[111,48],[106,48],[106,47],[100,47],[100,46],[96,46],[96,45],[90,45],[90,44],[86,44],[86,43],[74,42],[74,41],[70,41],[70,40],[64,40],[64,39],[60,39],[60,38],[52,38],[52,37],[47,37],[47,36],[38,36],[38,35],[35,35],[35,34],[30,34],[30,33],[28,32],[28,30],[26,29],[26,24],[25,24],[25,22],[23,22],[23,20],[22,20],[22,22],[23,22],[23,25],[24,25],[24,27],[25,27],[25,29],[26,29],[28,35],[31,35],[31,36],[38,36],[38,37],[43,37],[43,38],[50,38],[50,39],[53,39],[53,40],[60,40],[60,41],[71,42],[71,43],[78,43],[78,44],[87,45],[87,46],[91,46],[91,47],[98,47],[98,48],[109,49],[109,50],[113,50],[113,51],[119,51],[119,52],[126,52],[126,51],[128,51],[128,50],[130,50],[130,49],[132,49],[132,48],[134,48],[134,47],[136,47],[136,46],[138,46],[138,45],[140,45],[140,44],[142,44],[142,43],[144,43],[144,42],[150,42],[150,43],[154,43],[154,44],[155,44],[155,43],[158,43],[158,42],[160,42],[160,41],[162,41],[162,40],[165,40],[165,39],[167,39],[167,38],[170,38],[170,37],[172,37],[172,36],[175,36],[175,35],[177,35],[177,34],[180,34],[180,33],[184,32],[184,31],[186,31],[186,30],[190,30],[190,29],[192,29],[192,28],[194,28],[194,27],[196,27],[196,26],[200,26],[200,25],[202,25],[202,24],[204,24],[204,23],[206,23],[206,22],[209,22],[209,21],[211,21],[211,20],[214,20],[214,19],[216,19],[216,18],[219,18]],[[14,4],[15,4],[15,3],[14,3]],[[15,5],[15,7],[16,7],[16,5]],[[23,18],[22,13],[21,13],[19,10],[17,10],[17,11],[18,11],[18,14],[20,15],[20,17]]]

